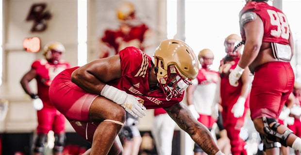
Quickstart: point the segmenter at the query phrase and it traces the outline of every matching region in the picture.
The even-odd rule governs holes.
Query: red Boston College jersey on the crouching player
[[[149,88],[149,71],[151,57],[136,47],[126,47],[119,52],[121,61],[121,78],[107,84],[132,94],[144,100],[147,109],[169,107],[183,100],[183,94],[170,100],[158,88],[151,91]]]

